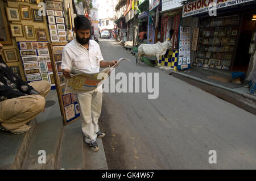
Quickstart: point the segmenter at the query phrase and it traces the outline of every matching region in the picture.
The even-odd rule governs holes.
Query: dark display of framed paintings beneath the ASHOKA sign
[[[196,66],[229,70],[237,43],[239,17],[201,21]],[[207,24],[207,26],[205,26]],[[197,61],[196,61],[197,62]]]

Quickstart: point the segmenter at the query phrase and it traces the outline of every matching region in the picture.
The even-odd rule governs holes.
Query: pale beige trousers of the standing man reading
[[[85,136],[85,142],[96,141],[98,129],[98,118],[101,115],[102,93],[99,91],[77,94],[82,132]]]

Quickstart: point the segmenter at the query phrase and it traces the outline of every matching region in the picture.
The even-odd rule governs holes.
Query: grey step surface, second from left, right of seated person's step
[[[22,166],[22,169],[56,169],[62,131],[62,117],[55,117],[39,123],[26,162]],[[39,150],[46,151],[46,163],[38,162],[39,157],[42,155],[42,153],[38,154]]]

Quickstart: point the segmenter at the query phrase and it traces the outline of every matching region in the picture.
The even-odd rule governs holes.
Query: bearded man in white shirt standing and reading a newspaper
[[[63,48],[61,69],[65,78],[71,78],[71,69],[77,69],[84,73],[98,73],[100,68],[106,68],[117,64],[117,60],[105,62],[100,46],[96,41],[90,40],[90,21],[84,15],[74,19],[76,39]],[[101,114],[102,92],[95,89],[91,92],[77,94],[80,106],[82,132],[85,142],[92,151],[98,151],[96,138],[102,138],[105,133],[98,129],[98,118]]]

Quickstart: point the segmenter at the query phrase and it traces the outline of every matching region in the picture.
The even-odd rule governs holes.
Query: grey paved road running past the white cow
[[[132,60],[115,74],[159,73],[158,99],[104,94],[100,128],[109,169],[256,169],[255,115],[158,68],[136,66],[114,40],[99,44],[105,61]],[[216,164],[209,163],[209,150],[216,150]]]

